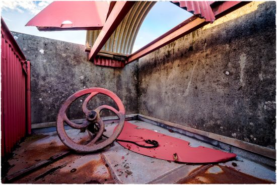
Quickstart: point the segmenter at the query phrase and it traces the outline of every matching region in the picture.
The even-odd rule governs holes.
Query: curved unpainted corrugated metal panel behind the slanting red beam
[[[133,44],[145,17],[156,2],[136,2],[117,29],[113,32],[102,50],[130,54]],[[100,30],[87,31],[86,51],[91,49]]]

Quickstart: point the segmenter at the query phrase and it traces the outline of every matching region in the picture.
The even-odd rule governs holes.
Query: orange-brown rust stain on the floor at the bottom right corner
[[[219,171],[215,171],[214,173],[211,172],[211,168],[217,167]],[[210,170],[209,170],[210,169]],[[201,170],[200,172],[196,173],[196,171],[199,170],[198,168],[196,170],[193,170],[188,176],[189,178],[186,178],[178,183],[273,183],[268,180],[260,179],[242,172],[239,172],[235,170],[234,168],[227,167],[227,166],[221,166],[221,165],[212,165],[211,167],[205,168],[204,170]]]

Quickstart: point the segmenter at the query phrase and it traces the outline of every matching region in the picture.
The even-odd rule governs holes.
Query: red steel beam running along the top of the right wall
[[[216,19],[223,17],[230,12],[248,4],[250,2],[215,2],[211,4],[213,13]],[[162,36],[158,37],[157,39],[153,40],[146,46],[142,47],[141,49],[137,50],[136,52],[130,54],[127,57],[126,65],[130,64],[132,61],[137,60],[175,40],[181,38],[201,27],[204,25],[209,24],[209,22],[205,22],[204,19],[197,18],[196,16],[192,16],[189,19],[185,20],[181,24],[177,25],[173,29],[169,30]]]

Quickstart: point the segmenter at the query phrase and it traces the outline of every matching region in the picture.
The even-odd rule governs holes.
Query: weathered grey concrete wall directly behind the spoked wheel
[[[61,104],[70,95],[91,87],[111,90],[122,100],[126,114],[137,113],[137,63],[124,69],[99,67],[87,60],[84,45],[12,33],[31,60],[32,124],[55,121]],[[68,118],[85,118],[82,112],[85,97],[71,105]],[[114,105],[111,98],[96,95],[89,108],[103,104]],[[105,110],[103,114],[114,115]]]

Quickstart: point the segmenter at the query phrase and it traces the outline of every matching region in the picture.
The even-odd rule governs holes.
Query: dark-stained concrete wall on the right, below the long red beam
[[[275,2],[252,2],[138,63],[138,109],[275,146]]]

